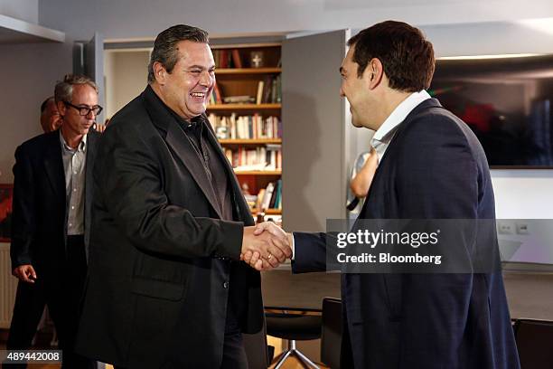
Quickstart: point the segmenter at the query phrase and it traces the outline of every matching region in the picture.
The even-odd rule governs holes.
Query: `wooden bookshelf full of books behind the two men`
[[[282,215],[280,43],[213,45],[217,80],[208,105],[252,215]]]

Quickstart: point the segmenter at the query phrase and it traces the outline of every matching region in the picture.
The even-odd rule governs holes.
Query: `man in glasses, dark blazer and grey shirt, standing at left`
[[[8,349],[27,349],[45,301],[63,350],[64,368],[92,367],[74,353],[87,270],[90,187],[101,111],[92,80],[68,75],[55,87],[62,125],[17,147],[11,257],[20,279]],[[36,303],[29,304],[29,300]],[[33,317],[33,318],[27,318]],[[23,325],[21,324],[23,322]]]

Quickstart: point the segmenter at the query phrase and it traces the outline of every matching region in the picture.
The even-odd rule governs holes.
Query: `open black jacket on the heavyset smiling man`
[[[150,87],[103,134],[78,339],[83,355],[130,368],[214,368],[227,302],[243,332],[261,329],[259,273],[238,261],[243,226],[253,219],[205,122],[226,168],[235,221],[221,220],[192,144]]]

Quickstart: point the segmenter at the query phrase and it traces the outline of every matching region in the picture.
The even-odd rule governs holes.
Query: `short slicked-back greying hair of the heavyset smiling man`
[[[169,73],[173,71],[174,64],[179,59],[177,43],[192,41],[194,43],[209,43],[209,35],[200,28],[186,24],[176,24],[167,28],[155,37],[154,50],[148,64],[148,82],[155,81],[154,63],[159,61]]]

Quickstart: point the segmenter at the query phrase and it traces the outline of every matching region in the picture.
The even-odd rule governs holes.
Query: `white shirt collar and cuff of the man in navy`
[[[370,146],[374,147],[378,162],[382,160],[382,156],[386,152],[386,149],[389,147],[389,143],[394,137],[396,130],[401,122],[407,118],[409,113],[417,108],[418,104],[430,99],[430,95],[426,90],[420,90],[418,92],[413,92],[408,96],[407,99],[404,99],[399,103],[399,105],[394,109],[391,114],[384,120],[384,123],[380,128],[374,133],[374,136],[370,140]],[[292,260],[295,258],[295,238],[294,234],[292,235]]]

